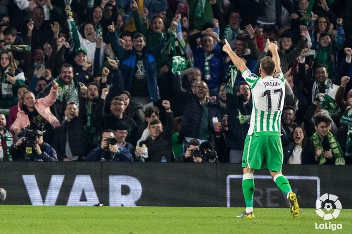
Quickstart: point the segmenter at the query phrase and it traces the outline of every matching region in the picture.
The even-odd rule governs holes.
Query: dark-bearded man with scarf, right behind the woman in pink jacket
[[[59,85],[59,91],[57,99],[55,103],[51,105],[50,110],[51,113],[53,113],[55,117],[63,123],[65,106],[71,102],[77,103],[78,105],[80,88],[78,82],[73,79],[73,67],[68,63],[61,65],[60,74],[55,81]],[[45,90],[39,93],[39,98],[44,98],[49,94],[51,85],[52,83],[50,83]]]

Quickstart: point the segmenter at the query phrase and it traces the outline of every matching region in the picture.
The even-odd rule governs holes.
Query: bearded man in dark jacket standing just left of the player
[[[241,163],[244,140],[249,129],[249,118],[252,112],[250,88],[246,82],[238,86],[237,94],[226,94],[228,110],[227,148],[230,150],[229,162]]]

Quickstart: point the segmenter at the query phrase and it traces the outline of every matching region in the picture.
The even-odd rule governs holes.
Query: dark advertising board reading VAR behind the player
[[[284,165],[303,208],[324,193],[352,208],[352,166]],[[254,174],[254,207],[288,207],[266,170]],[[243,207],[240,164],[0,162],[1,204]]]

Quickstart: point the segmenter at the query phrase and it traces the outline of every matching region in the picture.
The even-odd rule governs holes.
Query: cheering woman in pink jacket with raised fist
[[[23,94],[22,102],[18,103],[17,118],[11,130],[17,136],[25,127],[29,126],[31,129],[41,128],[42,130],[49,130],[53,127],[60,125],[57,118],[51,113],[50,106],[55,103],[57,98],[58,85],[56,82],[52,83],[52,87],[48,96],[35,99],[33,92],[26,91]],[[48,133],[52,131],[46,131],[44,133],[45,138],[51,138]],[[47,135],[47,137],[45,137]]]

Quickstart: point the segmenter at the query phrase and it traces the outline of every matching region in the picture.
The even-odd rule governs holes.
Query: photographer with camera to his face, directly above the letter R
[[[97,148],[93,149],[85,161],[114,161],[114,162],[132,162],[133,158],[128,157],[124,152],[121,152],[118,147],[118,142],[115,138],[115,132],[111,129],[106,129],[102,133],[102,143]]]

